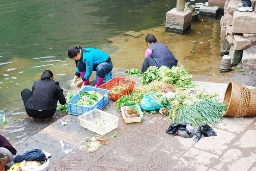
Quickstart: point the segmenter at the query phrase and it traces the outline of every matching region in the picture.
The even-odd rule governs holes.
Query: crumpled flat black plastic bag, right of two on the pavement
[[[195,132],[196,137],[194,138],[194,141],[198,142],[202,135],[204,137],[217,136],[216,132],[207,123],[202,123],[199,125]]]

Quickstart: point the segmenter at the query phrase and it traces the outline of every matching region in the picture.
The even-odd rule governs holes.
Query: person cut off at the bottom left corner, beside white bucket
[[[5,171],[4,165],[10,163],[17,151],[11,143],[0,134],[0,171]]]

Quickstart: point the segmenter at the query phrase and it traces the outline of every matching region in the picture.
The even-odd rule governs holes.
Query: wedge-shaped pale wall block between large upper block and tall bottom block
[[[234,35],[234,46],[236,50],[243,50],[252,46],[256,42],[256,37],[253,39],[245,38],[243,36]],[[255,50],[256,51],[256,50]]]

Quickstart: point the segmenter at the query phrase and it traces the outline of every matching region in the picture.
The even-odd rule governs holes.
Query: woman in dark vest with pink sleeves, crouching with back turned
[[[153,34],[148,34],[145,40],[149,47],[145,52],[141,72],[145,72],[150,66],[156,66],[158,68],[161,66],[167,66],[169,68],[177,66],[178,61],[172,52],[165,44],[157,42]]]

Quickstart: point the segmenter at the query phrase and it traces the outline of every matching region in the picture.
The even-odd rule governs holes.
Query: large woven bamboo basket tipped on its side
[[[230,82],[226,89],[223,104],[227,104],[225,116],[247,117],[256,115],[256,92]]]

